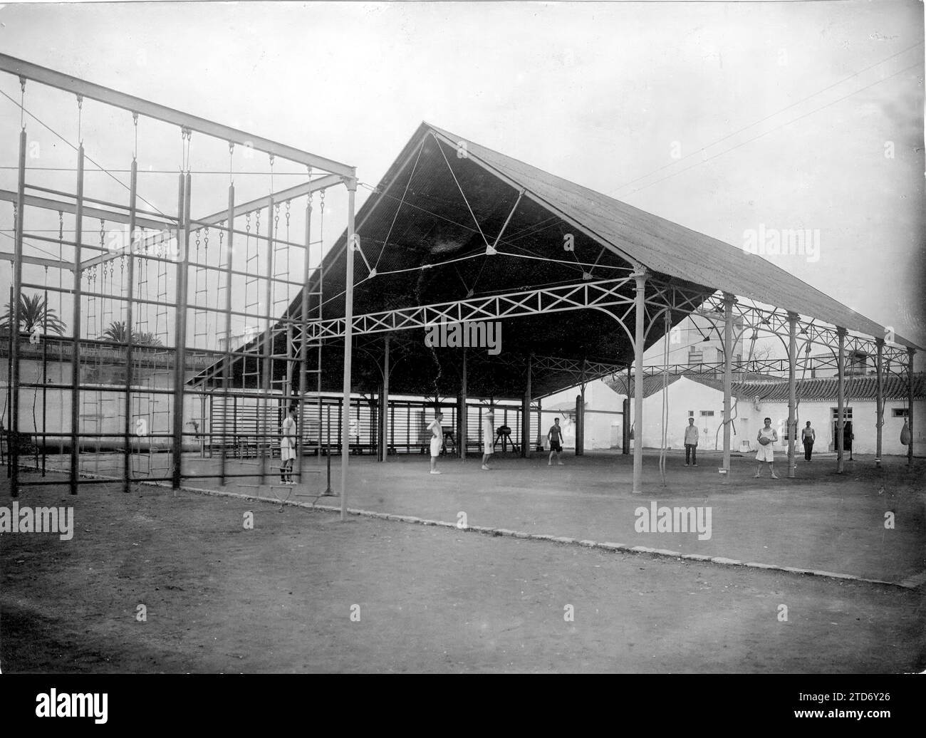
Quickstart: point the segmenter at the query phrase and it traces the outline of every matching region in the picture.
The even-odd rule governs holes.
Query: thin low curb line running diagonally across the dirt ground
[[[161,482],[139,482],[142,484],[150,484],[153,486],[165,486]],[[278,500],[273,497],[260,497],[254,494],[241,494],[237,492],[226,492],[223,490],[209,490],[198,487],[181,487],[181,490],[184,492],[192,492],[195,494],[207,494],[216,497],[235,497],[238,499],[244,500],[256,500],[257,502],[269,502],[272,505],[289,505],[292,507],[304,507],[309,510],[322,510],[323,512],[334,512],[340,513],[340,507],[334,507],[332,505],[317,505],[310,502],[296,502],[295,500]],[[550,535],[549,533],[528,533],[521,531],[510,531],[507,528],[488,528],[480,525],[468,525],[464,528],[459,528],[457,523],[447,522],[445,520],[430,520],[423,518],[416,518],[412,515],[393,515],[391,513],[382,513],[374,512],[372,510],[361,510],[355,507],[347,508],[348,515],[355,515],[362,518],[375,518],[382,520],[395,520],[397,522],[404,523],[413,523],[418,525],[435,525],[441,528],[453,528],[460,532],[475,532],[482,533],[483,535],[494,535],[494,536],[505,536],[507,538],[521,538],[532,541],[545,541],[552,542],[555,544],[563,545],[578,545],[583,548],[594,548],[600,551],[608,552],[620,552],[620,553],[630,553],[630,554],[647,554],[653,557],[662,557],[662,558],[675,558],[681,559],[683,561],[696,561],[700,563],[709,563],[717,564],[720,566],[729,566],[729,567],[743,567],[745,569],[764,569],[767,571],[784,571],[789,574],[803,574],[805,576],[814,576],[814,577],[823,577],[824,579],[834,579],[845,582],[865,582],[867,584],[885,584],[891,587],[900,587],[902,589],[918,589],[922,586],[923,583],[926,583],[926,572],[920,574],[919,576],[910,577],[903,582],[885,582],[880,579],[866,579],[865,577],[857,577],[854,574],[840,574],[835,571],[824,571],[822,569],[801,569],[799,567],[782,567],[775,564],[761,564],[757,561],[739,561],[735,558],[725,558],[725,557],[711,557],[704,554],[682,554],[679,551],[670,551],[665,548],[650,548],[649,546],[644,545],[626,545],[626,544],[613,544],[613,543],[598,543],[595,541],[582,540],[580,541],[577,538],[569,538],[566,536],[556,536]]]

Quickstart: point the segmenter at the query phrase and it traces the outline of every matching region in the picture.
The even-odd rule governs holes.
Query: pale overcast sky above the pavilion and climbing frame
[[[6,5],[0,23],[6,54],[362,181],[426,119],[737,246],[819,230],[819,258],[777,263],[926,344],[920,2]],[[18,128],[0,98],[0,164]]]

